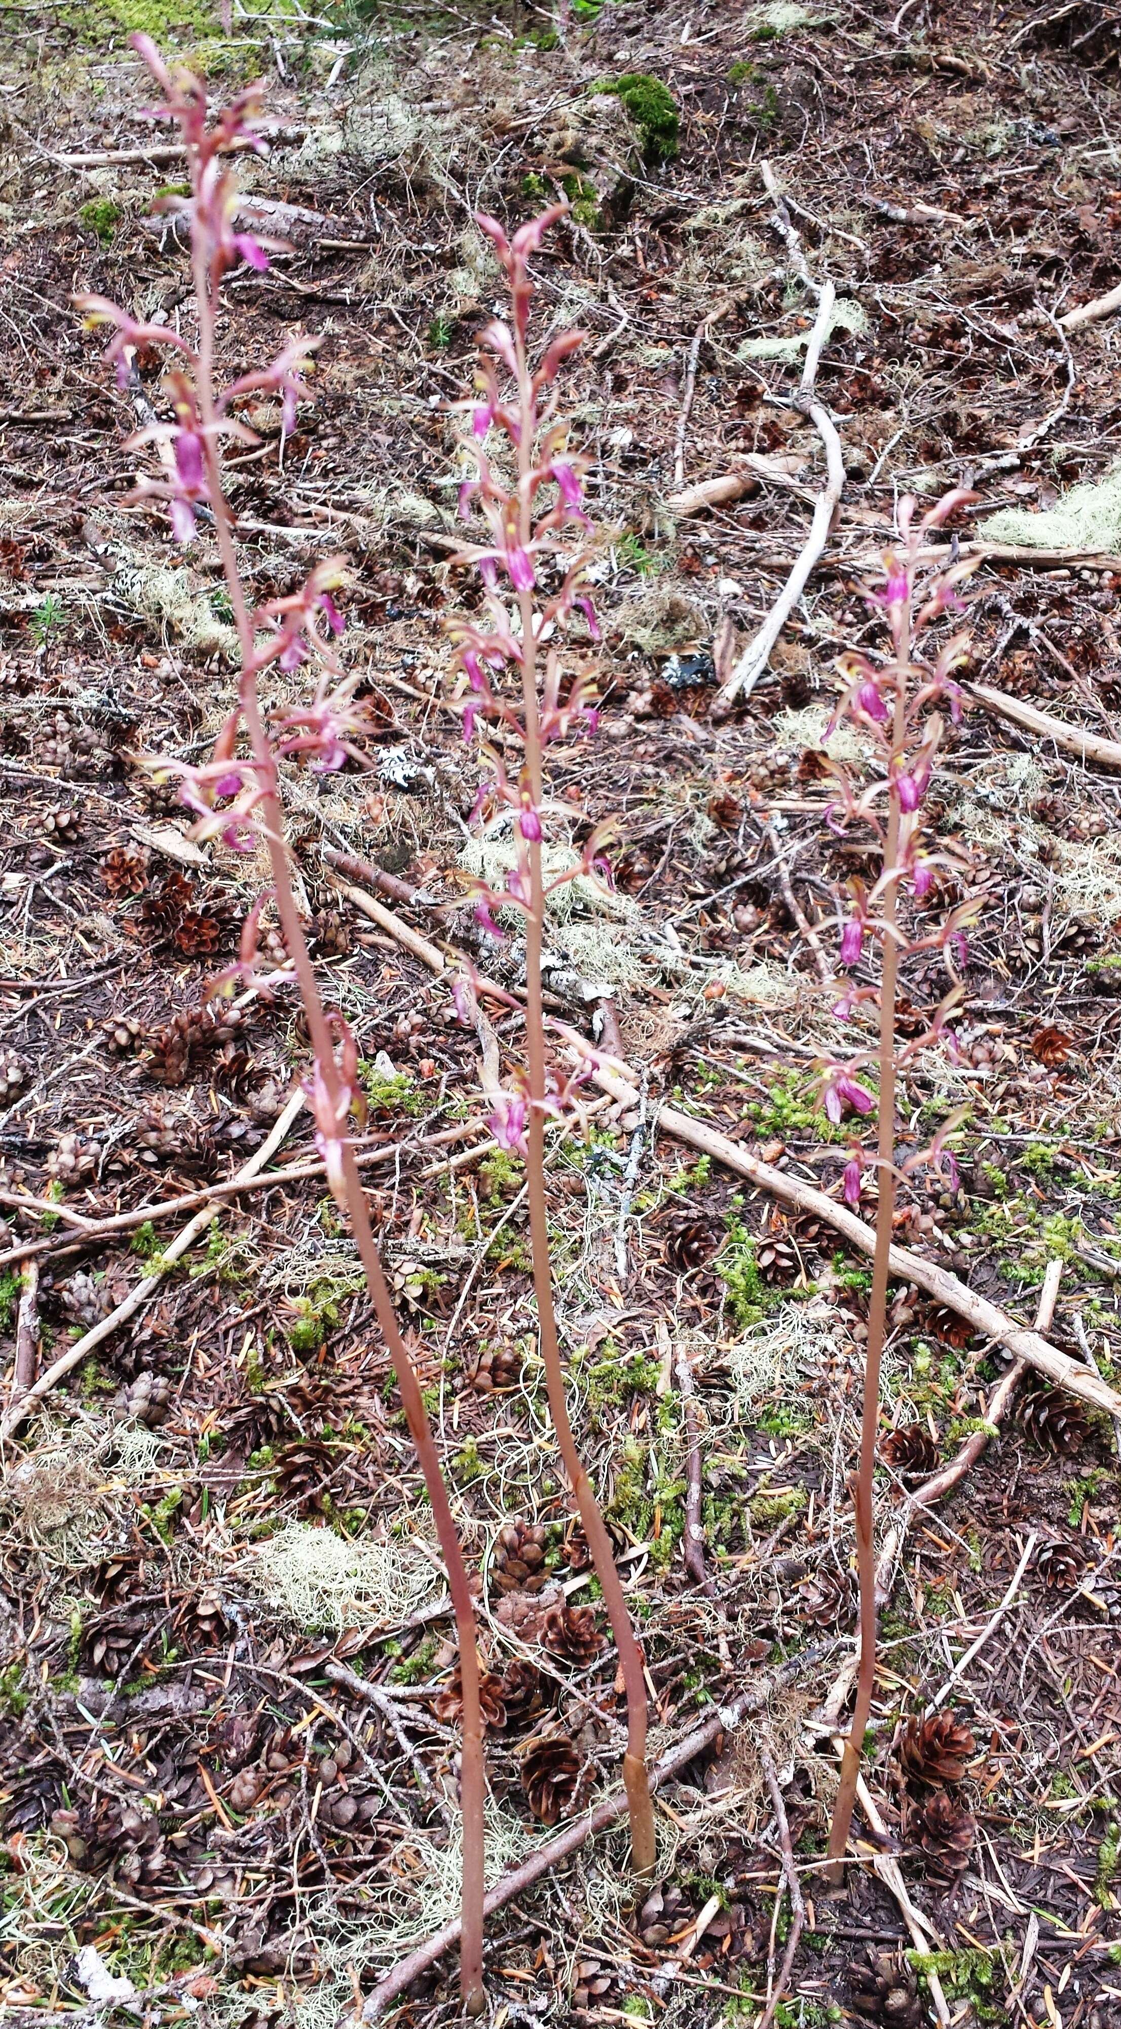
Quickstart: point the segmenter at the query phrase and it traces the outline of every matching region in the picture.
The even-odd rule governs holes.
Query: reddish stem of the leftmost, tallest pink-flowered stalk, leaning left
[[[207,465],[209,503],[215,515],[215,536],[229,590],[229,603],[233,607],[237,641],[241,649],[241,666],[243,666],[239,680],[241,712],[245,718],[245,730],[249,734],[249,745],[257,767],[257,779],[264,785],[264,795],[259,801],[259,812],[264,820],[261,830],[268,842],[276,907],[284,927],[288,954],[296,968],[300,996],[304,1002],[304,1012],[308,1017],[312,1049],[316,1053],[330,1102],[339,1104],[343,1094],[341,1094],[339,1069],[334,1063],[334,1039],[318,994],[314,968],[308,956],[308,946],[300,923],[300,913],[296,909],[296,897],[292,893],[288,852],[284,846],[284,828],[282,828],[284,820],[280,812],[276,759],[261,718],[255,676],[251,670],[253,623],[245,601],[241,574],[237,570],[237,552],[233,546],[229,505],[221,489],[221,467],[217,454],[217,410],[213,394],[215,314],[213,314],[211,280],[205,268],[205,258],[199,252],[199,248],[195,252],[195,290],[199,298],[197,396],[199,396],[199,412],[203,418],[203,457]],[[343,1179],[345,1179],[347,1211],[351,1217],[355,1246],[359,1250],[359,1258],[365,1270],[367,1288],[373,1301],[377,1323],[389,1347],[389,1357],[393,1361],[397,1388],[401,1392],[401,1406],[405,1410],[409,1437],[416,1445],[416,1453],[424,1473],[424,1483],[428,1487],[428,1497],[432,1501],[436,1536],[440,1542],[440,1552],[444,1556],[444,1566],[448,1570],[448,1591],[452,1595],[452,1611],[456,1617],[456,1633],[460,1650],[460,1682],[462,1682],[460,1802],[462,1802],[462,1840],[464,1840],[460,1988],[468,2015],[480,2015],[487,2007],[487,1995],[482,1988],[484,1767],[482,1767],[482,1708],[478,1696],[478,1648],[474,1629],[474,1605],[470,1599],[466,1566],[456,1536],[456,1524],[452,1518],[448,1489],[444,1485],[444,1475],[440,1471],[440,1457],[432,1437],[432,1426],[428,1422],[428,1414],[424,1408],[424,1398],[420,1392],[416,1368],[401,1339],[401,1329],[397,1325],[393,1301],[389,1297],[389,1288],[381,1268],[377,1242],[373,1238],[369,1205],[361,1185],[355,1150],[349,1140],[345,1140],[343,1144]]]

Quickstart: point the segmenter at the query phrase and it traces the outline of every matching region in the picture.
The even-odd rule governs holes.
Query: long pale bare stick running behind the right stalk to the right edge
[[[572,1031],[570,1031],[572,1037]],[[572,1037],[574,1041],[580,1041]],[[602,1092],[610,1092],[612,1098],[622,1100],[626,1106],[639,1104],[639,1092],[628,1079],[634,1079],[634,1071],[628,1065],[598,1063],[592,1069],[592,1081],[600,1086]],[[675,1106],[659,1106],[655,1114],[657,1126],[673,1140],[685,1142],[689,1148],[697,1148],[699,1155],[709,1155],[716,1163],[724,1163],[738,1177],[746,1177],[748,1183],[756,1183],[762,1191],[770,1191],[784,1205],[795,1205],[799,1211],[813,1211],[819,1219],[825,1219],[843,1240],[860,1248],[862,1254],[876,1252],[876,1232],[864,1219],[849,1211],[847,1205],[839,1205],[825,1191],[815,1189],[813,1183],[803,1183],[801,1177],[791,1177],[782,1169],[774,1169],[770,1163],[762,1163],[758,1157],[750,1155],[738,1142],[730,1140],[718,1128],[707,1126],[703,1120],[693,1120],[689,1114],[677,1112]],[[910,1254],[908,1248],[892,1246],[888,1256],[888,1270],[896,1282],[914,1282],[924,1288],[928,1297],[945,1303],[947,1309],[957,1311],[965,1317],[973,1331],[985,1339],[995,1339],[997,1345],[1007,1345],[1010,1353],[1024,1359],[1030,1368],[1036,1368],[1054,1382],[1056,1388],[1068,1388],[1070,1394],[1080,1396],[1093,1408],[1105,1410],[1107,1416],[1121,1420],[1121,1394],[1109,1388],[1101,1376],[1091,1374],[1078,1359],[1070,1359],[1068,1353],[1060,1353],[1056,1345],[1048,1345],[1038,1331],[1028,1325],[1018,1325],[1016,1319],[1001,1311],[987,1297],[979,1297],[975,1290],[959,1282],[949,1268],[939,1268],[937,1262],[928,1262],[922,1254]]]

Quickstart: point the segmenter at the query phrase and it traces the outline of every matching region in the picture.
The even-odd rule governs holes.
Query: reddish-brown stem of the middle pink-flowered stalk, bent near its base
[[[521,386],[521,432],[519,432],[519,523],[521,542],[529,544],[531,534],[531,509],[529,509],[529,489],[525,485],[531,459],[533,459],[533,430],[531,430],[531,408],[527,394],[527,371],[525,371],[525,349],[521,333],[517,337],[519,351],[519,386]],[[519,613],[521,613],[521,680],[523,680],[523,710],[525,710],[525,769],[529,779],[529,795],[533,808],[541,808],[543,795],[543,771],[541,771],[541,726],[539,726],[539,706],[537,706],[537,641],[533,635],[533,597],[529,590],[519,592]],[[541,872],[541,840],[529,842],[529,915],[525,925],[525,1055],[529,1071],[529,1155],[525,1165],[527,1197],[529,1197],[529,1238],[533,1248],[533,1290],[537,1297],[537,1329],[541,1335],[541,1359],[545,1363],[545,1388],[549,1396],[549,1414],[553,1418],[553,1430],[557,1435],[557,1447],[564,1459],[564,1467],[572,1485],[572,1493],[580,1512],[580,1522],[584,1536],[588,1538],[588,1550],[592,1552],[592,1562],[596,1566],[596,1577],[602,1587],[604,1605],[608,1609],[608,1619],[618,1650],[618,1662],[622,1668],[622,1682],[626,1690],[626,1753],[622,1757],[622,1783],[626,1788],[626,1806],[630,1814],[630,1857],[634,1871],[639,1875],[651,1875],[657,1861],[657,1838],[655,1838],[655,1808],[651,1802],[651,1786],[647,1777],[647,1682],[643,1670],[643,1656],[639,1641],[634,1639],[634,1629],[630,1625],[630,1615],[626,1611],[626,1601],[622,1597],[622,1581],[618,1577],[618,1566],[610,1548],[610,1538],[596,1501],[592,1481],[580,1451],[576,1449],[576,1439],[572,1435],[572,1422],[568,1416],[566,1388],[564,1388],[564,1363],[559,1353],[557,1323],[553,1309],[553,1274],[549,1262],[549,1223],[545,1205],[545,1017],[541,1002],[541,933],[545,923],[545,883]]]

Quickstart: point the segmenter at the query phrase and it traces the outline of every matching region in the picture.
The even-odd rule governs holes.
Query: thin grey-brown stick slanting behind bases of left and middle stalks
[[[693,1733],[687,1733],[683,1741],[677,1741],[677,1745],[671,1747],[661,1757],[661,1761],[655,1761],[655,1765],[651,1767],[649,1771],[651,1790],[657,1790],[661,1788],[661,1783],[671,1781],[673,1775],[679,1773],[679,1769],[687,1767],[689,1761],[693,1761],[699,1753],[705,1751],[705,1747],[712,1747],[712,1743],[718,1739],[720,1733],[732,1733],[752,1712],[760,1712],[774,1696],[774,1692],[780,1690],[782,1684],[791,1682],[801,1670],[809,1668],[811,1662],[813,1662],[813,1652],[807,1652],[803,1656],[793,1658],[772,1676],[756,1678],[756,1682],[748,1690],[742,1690],[740,1696],[732,1700],[732,1704],[722,1706],[714,1719],[705,1719],[701,1727],[697,1727]],[[594,1810],[586,1810],[580,1818],[574,1818],[572,1824],[566,1824],[564,1832],[557,1832],[555,1838],[547,1838],[545,1844],[537,1846],[537,1850],[531,1852],[527,1861],[523,1861],[519,1867],[513,1867],[509,1875],[503,1875],[493,1889],[487,1889],[487,1899],[482,1905],[484,1913],[493,1915],[495,1909],[505,1909],[507,1903],[515,1901],[519,1895],[525,1895],[527,1889],[535,1887],[537,1881],[553,1873],[553,1869],[559,1867],[562,1861],[568,1861],[570,1855],[578,1852],[580,1846],[584,1846],[590,1838],[594,1838],[598,1832],[606,1832],[608,1826],[618,1824],[618,1820],[624,1818],[626,1812],[628,1812],[626,1790],[612,1790],[612,1794],[606,1796],[600,1804],[596,1804]],[[387,1972],[385,1978],[381,1978],[373,1988],[363,2009],[365,2021],[367,2023],[377,2021],[385,2013],[385,2009],[393,2005],[393,2001],[399,2001],[405,1988],[412,1986],[412,1982],[418,1980],[422,1972],[428,1972],[428,1968],[434,1966],[436,1960],[444,1956],[444,1952],[452,1950],[452,1946],[458,1940],[458,1934],[460,1934],[458,1917],[452,1917],[450,1923],[444,1923],[442,1930],[438,1930],[432,1938],[428,1938],[414,1952],[409,1952],[407,1958],[401,1958],[391,1968],[391,1972]]]

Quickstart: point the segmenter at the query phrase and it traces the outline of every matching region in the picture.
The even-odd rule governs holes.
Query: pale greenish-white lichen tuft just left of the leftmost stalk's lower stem
[[[442,1591],[416,1544],[345,1542],[328,1528],[290,1522],[253,1552],[251,1575],[278,1611],[300,1627],[395,1627]]]

